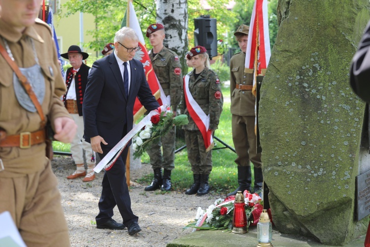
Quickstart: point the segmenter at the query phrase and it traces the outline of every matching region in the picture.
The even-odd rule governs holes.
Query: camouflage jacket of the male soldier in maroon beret
[[[152,50],[148,53],[155,75],[166,96],[170,95],[172,109],[176,111],[180,104],[183,84],[179,56],[166,47],[154,57]]]

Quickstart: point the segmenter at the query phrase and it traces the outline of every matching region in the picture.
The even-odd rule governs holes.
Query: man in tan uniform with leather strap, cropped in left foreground
[[[77,126],[60,100],[66,88],[51,30],[36,19],[40,0],[0,0],[0,6],[1,46],[24,68],[54,138],[70,142]],[[0,213],[10,212],[28,247],[70,246],[40,115],[1,55],[0,68]]]

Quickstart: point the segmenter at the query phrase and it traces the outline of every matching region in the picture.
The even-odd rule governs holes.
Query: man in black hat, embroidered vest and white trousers
[[[90,72],[90,67],[82,63],[89,54],[82,52],[77,45],[71,45],[67,53],[61,54],[62,57],[68,59],[72,65],[67,70],[65,82],[67,92],[63,95],[63,102],[66,106],[74,122],[77,124],[77,133],[71,142],[71,153],[77,169],[69,175],[68,179],[83,177],[83,182],[89,182],[95,179],[95,153],[91,145],[87,143],[83,137],[83,117],[82,117],[82,102],[87,84],[87,76]],[[83,162],[83,150],[85,150],[87,172]]]

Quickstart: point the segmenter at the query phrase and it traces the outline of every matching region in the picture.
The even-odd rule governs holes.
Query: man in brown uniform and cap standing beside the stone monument
[[[241,25],[234,33],[241,52],[230,60],[230,93],[232,114],[232,140],[237,158],[239,188],[227,194],[235,195],[237,191],[251,191],[251,165],[254,165],[254,192],[262,189],[263,177],[261,168],[261,153],[257,153],[255,134],[255,104],[256,97],[252,94],[253,74],[244,72],[245,53],[247,50],[249,26]]]

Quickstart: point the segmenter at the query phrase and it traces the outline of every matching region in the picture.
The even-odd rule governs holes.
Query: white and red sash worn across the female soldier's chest
[[[195,101],[189,90],[189,74],[184,77],[184,93],[187,111],[190,117],[194,120],[199,131],[202,133],[204,146],[206,147],[206,152],[210,151],[213,146],[212,130],[209,129],[210,116],[206,115],[202,108]]]

